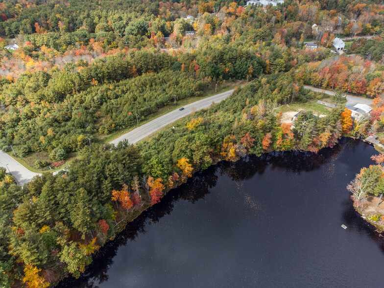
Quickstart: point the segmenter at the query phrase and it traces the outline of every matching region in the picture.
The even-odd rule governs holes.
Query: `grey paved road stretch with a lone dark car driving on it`
[[[173,123],[174,121],[181,119],[183,117],[186,117],[192,113],[192,108],[195,111],[208,108],[212,102],[218,103],[221,100],[227,98],[228,96],[232,95],[233,90],[229,90],[227,92],[223,92],[220,94],[216,94],[211,97],[207,97],[201,100],[198,100],[196,102],[193,102],[191,104],[188,104],[184,106],[184,110],[179,111],[179,109],[173,110],[163,116],[160,116],[148,123],[145,123],[144,125],[141,125],[123,135],[121,135],[119,138],[116,138],[115,140],[111,141],[110,143],[117,145],[120,141],[127,139],[129,143],[136,144],[137,142],[143,140],[144,138],[148,137],[149,135],[153,134],[157,130],[167,126],[170,123]]]

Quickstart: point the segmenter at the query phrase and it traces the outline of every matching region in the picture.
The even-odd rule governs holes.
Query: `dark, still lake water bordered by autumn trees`
[[[58,287],[384,287],[384,241],[345,188],[373,154],[342,139],[317,155],[220,163],[169,192],[80,279]]]

